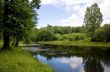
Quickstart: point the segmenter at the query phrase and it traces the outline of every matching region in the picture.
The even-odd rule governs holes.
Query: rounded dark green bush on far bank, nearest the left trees
[[[48,30],[40,30],[37,34],[36,41],[52,41],[55,40],[55,36],[52,32]]]

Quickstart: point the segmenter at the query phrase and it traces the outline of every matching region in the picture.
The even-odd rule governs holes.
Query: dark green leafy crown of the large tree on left
[[[9,3],[8,7],[10,7],[10,9],[9,11],[7,11],[8,19],[7,21],[5,21],[7,24],[3,24],[1,26],[3,30],[5,31],[7,30],[8,32],[14,33],[19,30],[26,30],[29,27],[32,27],[34,25],[32,20],[34,16],[34,12],[32,8],[29,6],[28,1],[26,0],[25,1],[22,1],[22,0],[8,1],[7,0],[7,2]]]

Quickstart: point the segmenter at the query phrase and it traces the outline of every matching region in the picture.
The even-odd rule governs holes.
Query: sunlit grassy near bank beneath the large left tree
[[[0,72],[53,72],[22,49],[0,51]]]

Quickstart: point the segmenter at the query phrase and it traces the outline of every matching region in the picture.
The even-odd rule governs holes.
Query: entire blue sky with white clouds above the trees
[[[110,0],[41,0],[38,27],[50,25],[82,26],[87,6],[98,3],[103,24],[110,23]]]

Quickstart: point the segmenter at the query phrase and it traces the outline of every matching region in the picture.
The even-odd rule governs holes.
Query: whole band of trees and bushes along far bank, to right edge
[[[86,27],[51,26],[42,27],[36,33],[36,41],[93,41],[110,42],[110,24],[97,28],[94,32],[88,32]]]

